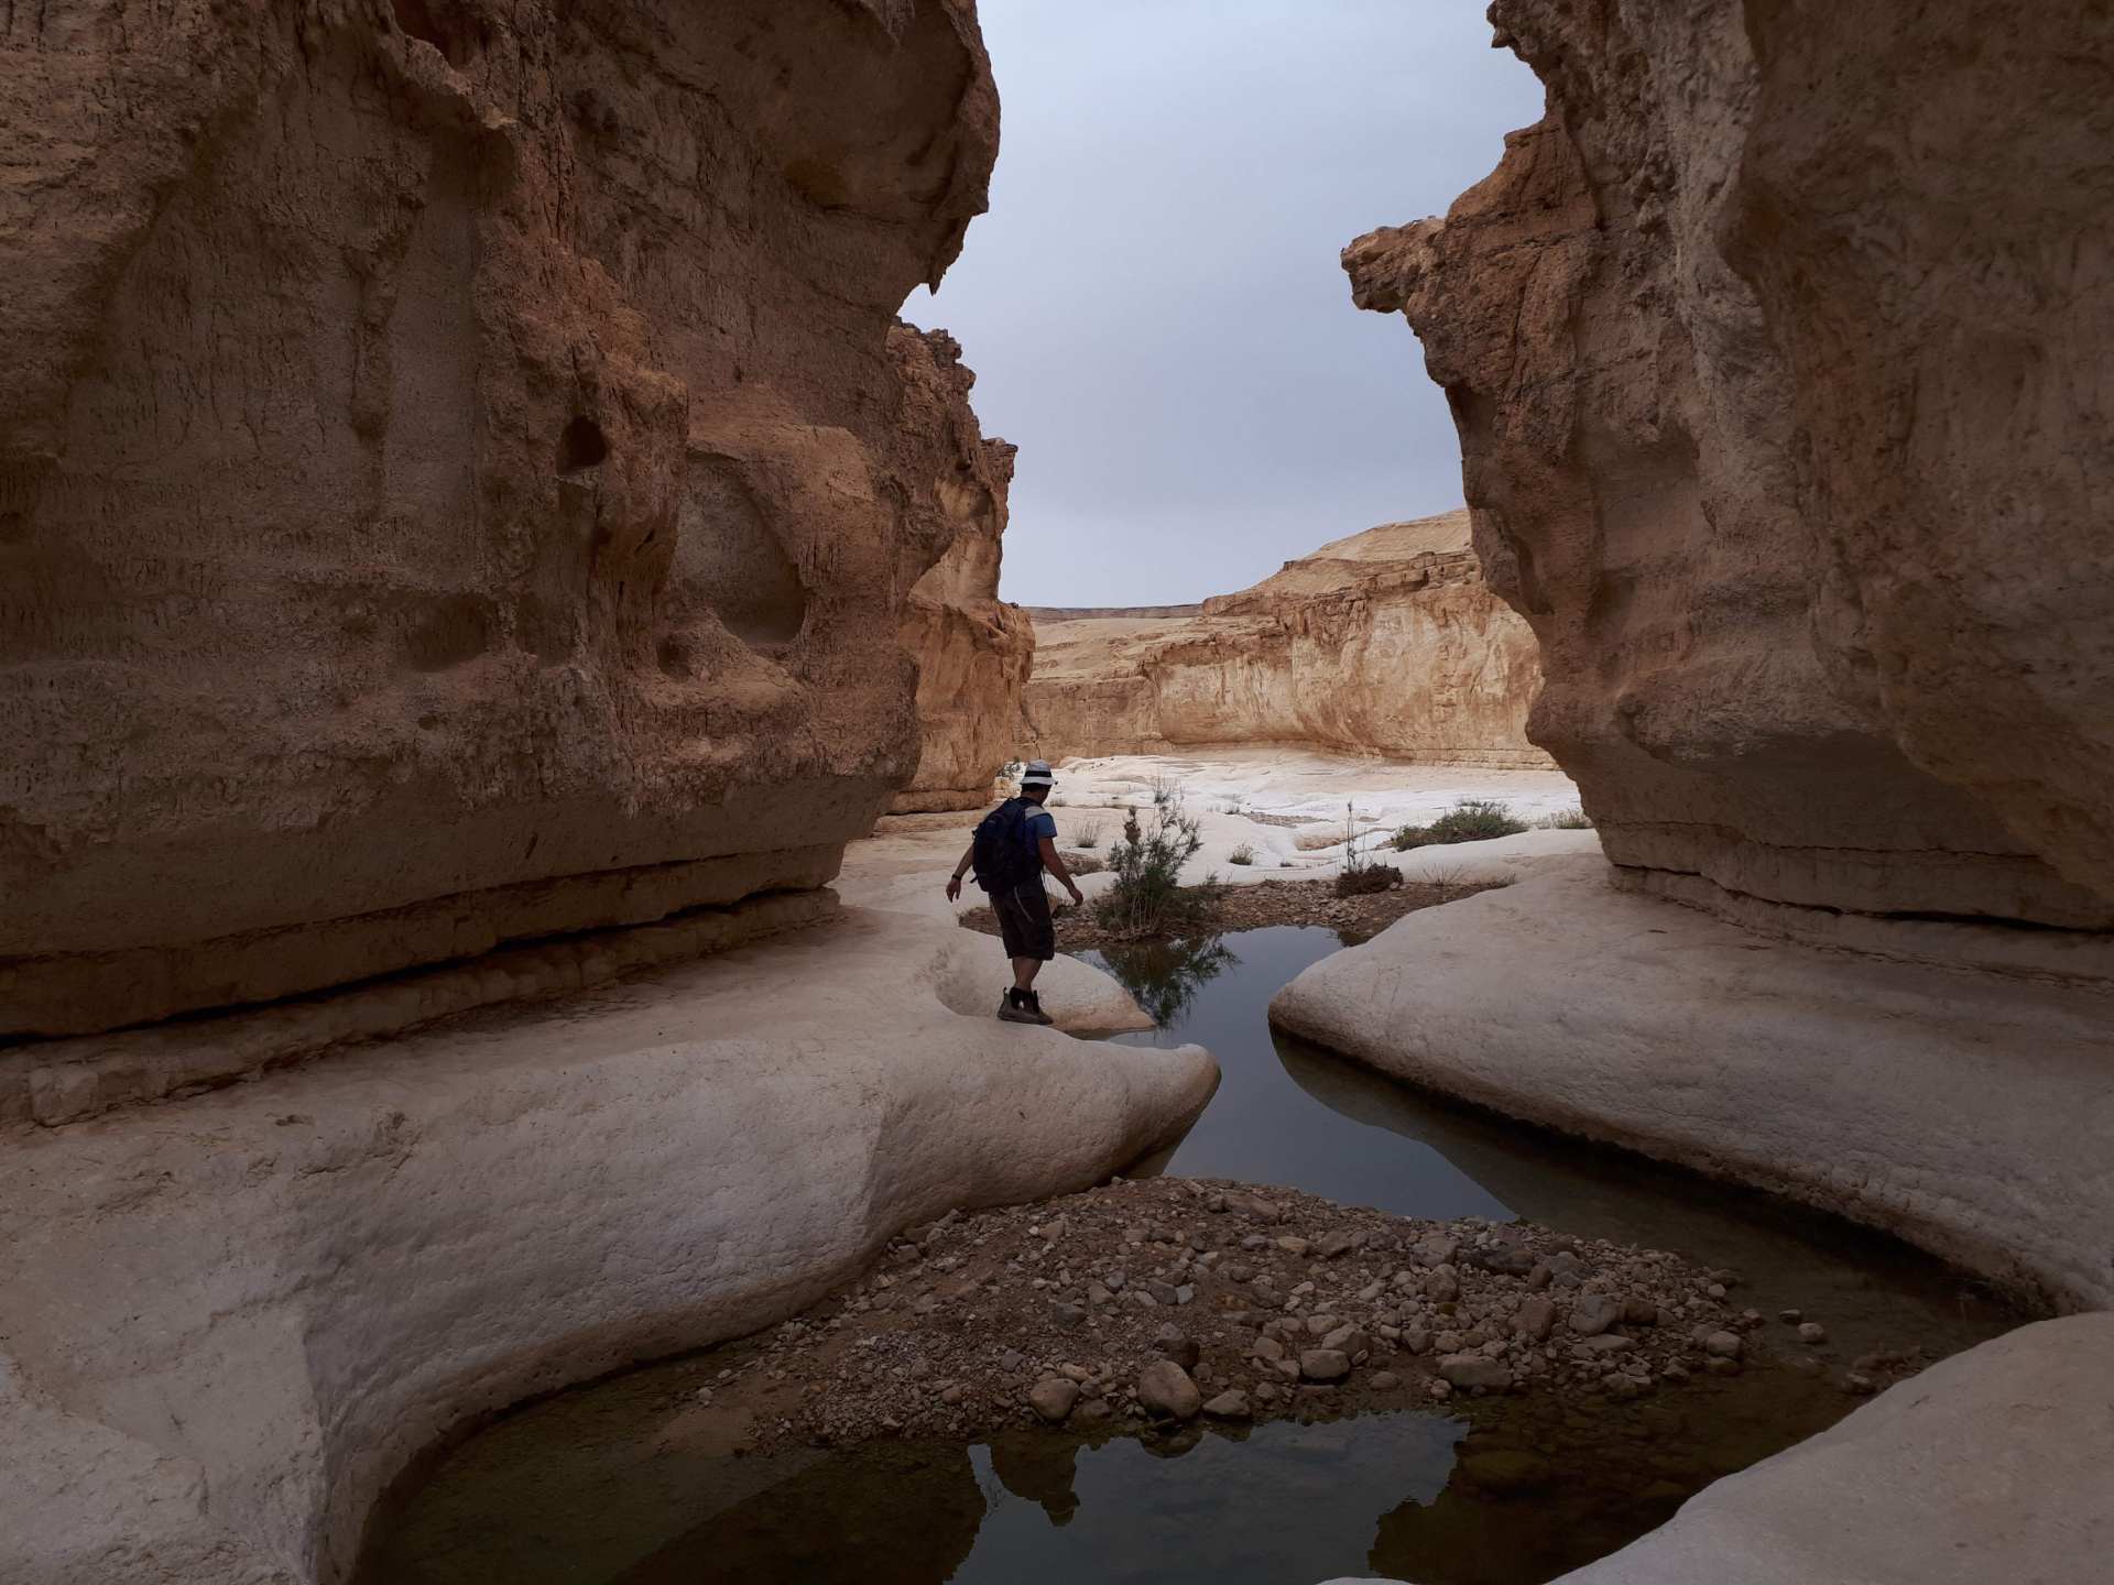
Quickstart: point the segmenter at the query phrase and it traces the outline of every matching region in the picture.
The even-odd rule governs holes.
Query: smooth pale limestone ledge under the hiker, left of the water
[[[1084,1188],[1209,1099],[1199,1046],[989,1017],[979,945],[1002,970],[854,909],[0,1133],[0,1579],[342,1581],[452,1426],[767,1325],[901,1228]],[[1114,997],[1072,964],[1044,1000],[1108,1025]]]

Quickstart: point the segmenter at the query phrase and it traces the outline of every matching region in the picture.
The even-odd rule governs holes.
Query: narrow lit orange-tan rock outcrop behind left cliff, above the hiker
[[[943,330],[898,325],[890,351],[905,389],[905,437],[932,444],[930,492],[953,524],[953,541],[903,609],[903,647],[917,661],[917,723],[924,748],[896,814],[975,809],[991,780],[1027,744],[1021,689],[1036,657],[1036,632],[1017,604],[998,598],[1000,537],[1015,448],[985,440],[962,368],[962,347]]]

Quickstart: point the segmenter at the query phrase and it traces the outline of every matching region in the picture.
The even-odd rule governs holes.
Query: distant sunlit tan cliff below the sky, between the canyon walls
[[[1036,623],[1044,757],[1313,744],[1438,765],[1545,765],[1524,738],[1533,634],[1482,581],[1467,514],[1323,545],[1194,617]]]

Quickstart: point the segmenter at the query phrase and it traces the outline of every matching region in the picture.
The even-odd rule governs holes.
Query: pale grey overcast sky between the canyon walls
[[[991,211],[941,292],[1021,448],[1004,596],[1165,604],[1461,503],[1446,399],[1336,254],[1541,114],[1482,0],[983,0]]]

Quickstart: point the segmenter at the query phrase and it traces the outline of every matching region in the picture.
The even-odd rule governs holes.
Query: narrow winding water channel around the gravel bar
[[[1526,1217],[1738,1272],[1820,1319],[1807,1372],[1628,1405],[1552,1395],[1163,1437],[1049,1431],[744,1458],[691,1410],[746,1344],[526,1405],[391,1505],[364,1585],[1539,1585],[1833,1424],[1862,1353],[1972,1346],[2021,1317],[1892,1241],[1617,1152],[1429,1101],[1273,1036],[1271,995],[1345,940],[1271,928],[1089,953],[1224,1082],[1161,1171],[1423,1217]],[[1797,1353],[1793,1348],[1793,1353]],[[1818,1369],[1812,1369],[1818,1365]]]

